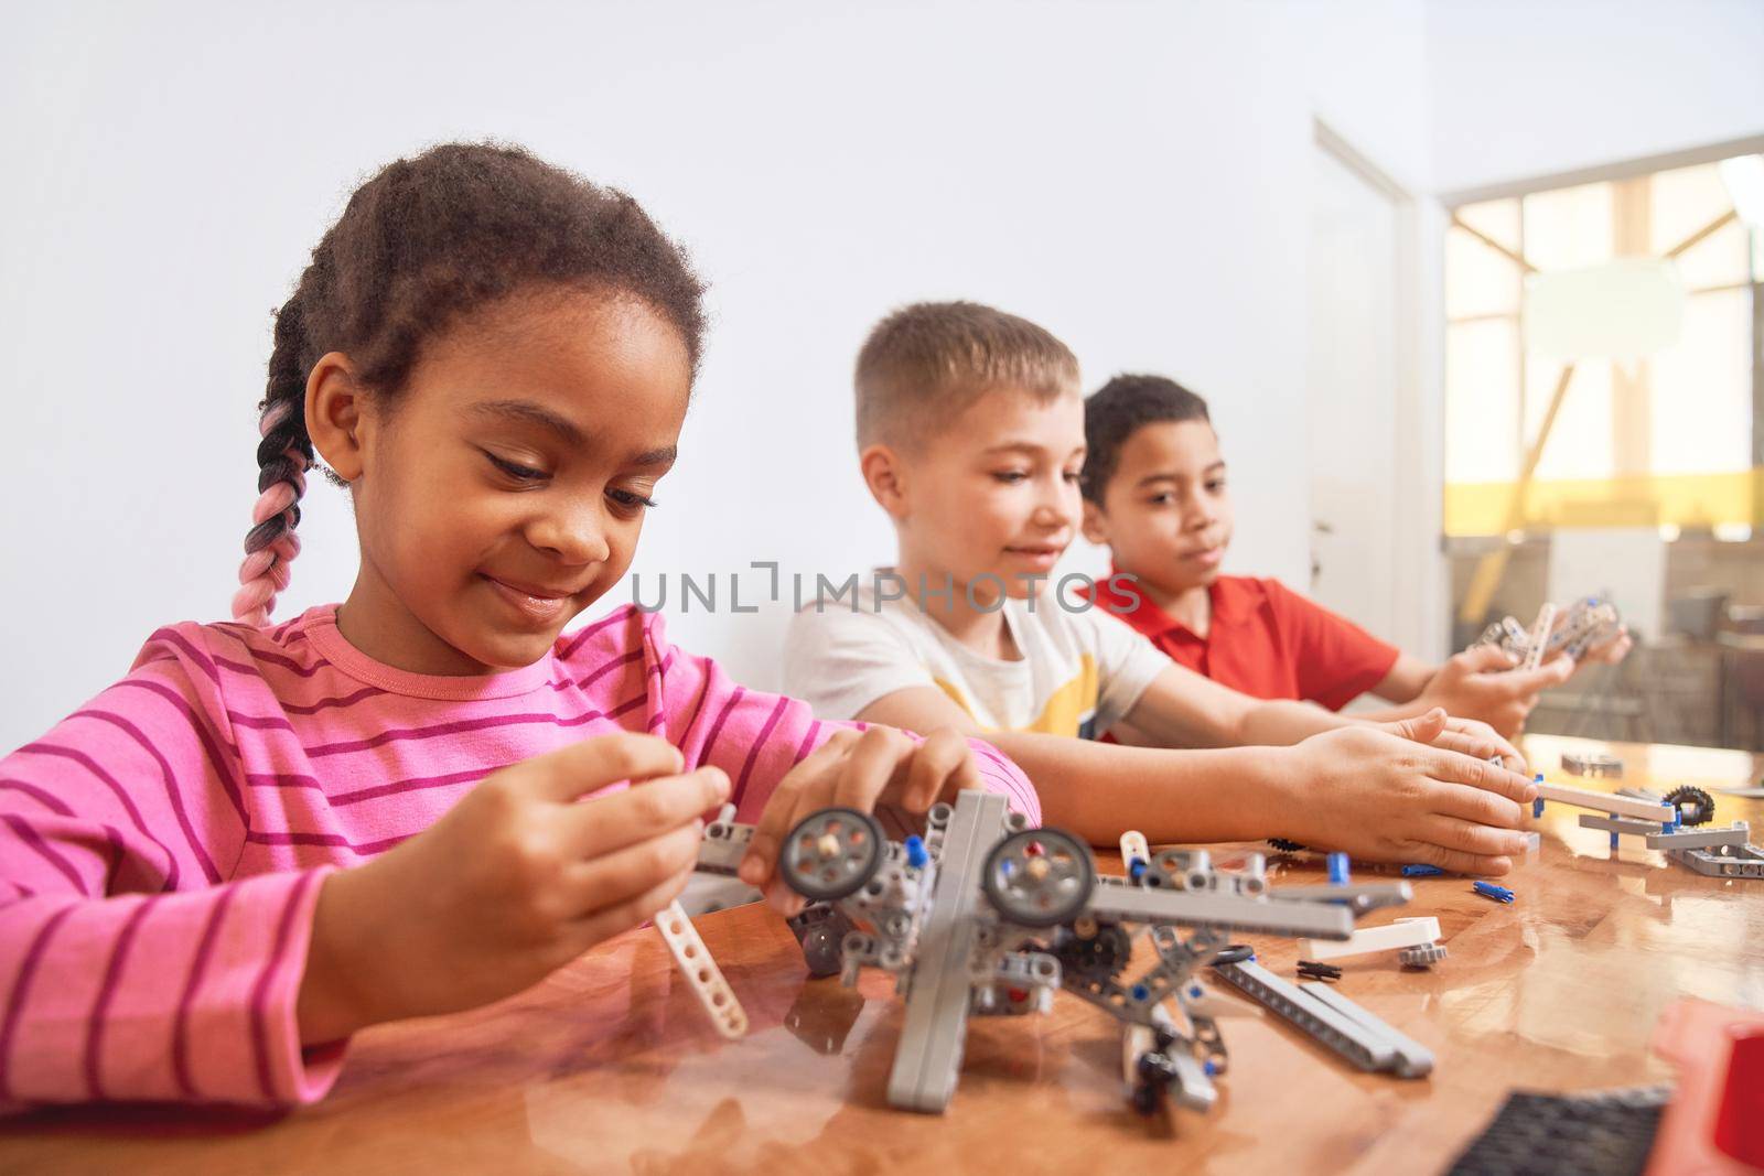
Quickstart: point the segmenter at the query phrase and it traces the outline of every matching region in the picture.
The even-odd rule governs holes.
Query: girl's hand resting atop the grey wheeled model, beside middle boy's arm
[[[831,806],[868,813],[877,804],[923,813],[944,795],[981,786],[968,741],[953,728],[935,730],[924,742],[893,726],[863,733],[841,728],[778,781],[737,873],[773,906],[794,915],[803,899],[778,878],[778,852],[804,816]]]

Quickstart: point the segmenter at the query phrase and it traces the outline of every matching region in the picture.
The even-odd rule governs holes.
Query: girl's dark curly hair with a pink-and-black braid
[[[307,374],[346,353],[376,397],[395,398],[427,340],[460,316],[531,287],[605,289],[646,301],[681,333],[697,374],[704,284],[635,199],[519,146],[446,143],[381,167],[355,190],[275,312],[258,444],[258,508],[233,615],[263,624],[298,554],[312,464]]]

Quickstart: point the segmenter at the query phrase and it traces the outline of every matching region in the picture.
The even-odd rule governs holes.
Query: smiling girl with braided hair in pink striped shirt
[[[238,621],[153,633],[0,762],[0,1105],[318,1098],[355,1030],[642,924],[725,800],[785,906],[813,808],[984,786],[1039,820],[984,744],[818,723],[658,615],[559,636],[632,561],[702,333],[637,203],[520,150],[356,190],[275,317]],[[362,568],[272,628],[314,457]]]

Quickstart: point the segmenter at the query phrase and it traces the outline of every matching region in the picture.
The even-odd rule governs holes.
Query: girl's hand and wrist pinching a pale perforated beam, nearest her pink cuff
[[[300,1040],[499,1000],[674,901],[714,767],[654,735],[584,739],[492,772],[425,832],[330,875],[300,987]],[[579,800],[617,781],[649,781]]]

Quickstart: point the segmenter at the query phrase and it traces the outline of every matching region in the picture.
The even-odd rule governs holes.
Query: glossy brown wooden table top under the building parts
[[[1760,770],[1730,751],[1528,741],[1551,779],[1568,779],[1566,749],[1609,749],[1625,783],[1662,792],[1755,785]],[[0,1127],[0,1171],[1432,1172],[1510,1088],[1671,1077],[1648,1037],[1674,998],[1764,1005],[1764,882],[1702,878],[1628,845],[1611,860],[1577,815],[1545,813],[1540,860],[1505,880],[1510,906],[1427,878],[1409,906],[1369,917],[1438,915],[1452,954],[1431,973],[1388,956],[1341,961],[1346,996],[1436,1051],[1424,1081],[1348,1070],[1279,1023],[1228,1021],[1231,1070],[1212,1114],[1141,1120],[1120,1095],[1115,1023],[1060,994],[1046,1017],[972,1023],[947,1114],[891,1111],[901,1005],[887,977],[857,991],[808,980],[783,924],[751,906],[700,920],[751,1019],[741,1042],[711,1031],[644,929],[490,1009],[362,1033],[314,1107],[44,1111]],[[1759,829],[1764,804],[1718,795],[1716,820],[1734,818]],[[1230,864],[1245,848],[1217,853]],[[1319,873],[1311,855],[1270,862],[1275,882]],[[1293,942],[1252,942],[1291,977]]]

